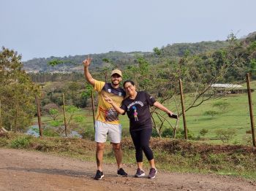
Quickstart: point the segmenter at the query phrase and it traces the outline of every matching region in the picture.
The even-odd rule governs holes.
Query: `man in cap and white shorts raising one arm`
[[[101,82],[93,77],[89,72],[89,66],[91,63],[91,58],[87,58],[83,61],[84,74],[86,80],[94,86],[94,90],[98,92],[98,108],[95,122],[95,141],[97,144],[96,149],[96,159],[97,159],[97,172],[94,179],[100,180],[104,177],[102,172],[102,160],[103,152],[105,148],[105,142],[108,138],[111,141],[113,150],[115,152],[116,163],[118,166],[117,175],[127,176],[127,173],[121,167],[122,151],[121,151],[121,125],[118,120],[118,113],[113,106],[108,104],[104,99],[104,95],[108,95],[115,101],[117,105],[121,105],[123,101],[125,92],[119,87],[122,80],[121,71],[115,69],[111,72],[111,83]]]

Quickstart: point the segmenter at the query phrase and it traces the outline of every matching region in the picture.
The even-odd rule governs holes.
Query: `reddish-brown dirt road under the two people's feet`
[[[93,179],[95,163],[42,152],[0,149],[0,190],[256,190],[256,183],[227,176],[166,173],[156,179],[116,176],[116,165],[104,165],[105,177]]]

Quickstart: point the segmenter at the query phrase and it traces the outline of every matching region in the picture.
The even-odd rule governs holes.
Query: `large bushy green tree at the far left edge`
[[[21,55],[2,48],[0,52],[0,100],[2,125],[7,130],[26,129],[35,114],[35,95],[39,86],[34,85],[22,69]]]

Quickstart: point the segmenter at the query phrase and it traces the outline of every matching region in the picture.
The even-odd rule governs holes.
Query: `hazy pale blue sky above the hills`
[[[32,58],[149,51],[256,31],[255,0],[0,0],[0,46]]]

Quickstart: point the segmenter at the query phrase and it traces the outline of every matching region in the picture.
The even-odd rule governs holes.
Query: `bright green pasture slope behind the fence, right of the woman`
[[[253,111],[254,115],[256,112],[256,92],[252,93],[252,102],[253,102]],[[224,101],[228,103],[227,109],[225,111],[221,111],[217,107],[214,107],[214,103],[218,101]],[[185,95],[185,104],[189,103],[189,96]],[[174,109],[172,103],[165,104],[168,108],[170,108],[173,112],[177,112]],[[216,111],[217,114],[206,115],[205,113],[208,111]],[[179,109],[181,111],[181,109]],[[256,115],[255,115],[256,116]],[[173,122],[173,120],[170,120]],[[222,141],[220,140],[211,140],[216,139],[216,130],[217,129],[233,129],[236,131],[236,136],[231,140],[233,144],[246,144],[248,137],[251,137],[251,134],[247,134],[246,131],[251,130],[250,118],[249,118],[249,105],[248,105],[248,97],[247,94],[238,94],[238,95],[227,95],[226,97],[220,100],[209,100],[197,106],[195,108],[189,109],[186,112],[186,122],[187,129],[193,133],[196,137],[199,135],[200,130],[203,128],[208,130],[206,136],[203,138],[209,143],[217,143],[220,144]],[[183,129],[183,119],[182,116],[179,119],[178,127]],[[167,124],[165,124],[164,128],[168,128]]]

